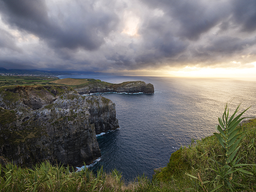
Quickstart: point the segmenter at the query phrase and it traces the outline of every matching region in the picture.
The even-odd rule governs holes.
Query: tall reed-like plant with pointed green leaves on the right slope
[[[240,105],[239,105],[240,106]],[[214,183],[215,188],[212,191],[237,191],[237,190],[249,190],[248,185],[239,183],[238,179],[241,178],[242,174],[251,175],[252,173],[245,170],[248,164],[239,163],[242,157],[239,158],[239,153],[237,154],[240,146],[238,144],[245,136],[245,132],[238,133],[241,129],[237,126],[239,123],[245,119],[240,118],[244,112],[246,112],[249,108],[244,110],[242,113],[234,116],[238,112],[238,108],[229,118],[229,108],[226,104],[225,112],[222,115],[222,118],[219,118],[219,124],[216,125],[217,130],[220,133],[214,133],[214,135],[218,138],[221,146],[225,151],[225,163],[213,161],[216,163],[212,165],[212,170],[217,174],[215,179],[211,182]],[[239,119],[240,118],[240,119]],[[238,133],[238,134],[237,134]],[[240,137],[240,138],[239,138]]]

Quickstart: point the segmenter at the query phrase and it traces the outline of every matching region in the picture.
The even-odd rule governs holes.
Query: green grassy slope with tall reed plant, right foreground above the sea
[[[226,113],[226,111],[225,111]],[[170,162],[158,172],[155,178],[165,183],[172,183],[172,188],[191,191],[244,191],[256,188],[256,119],[244,124],[238,124],[240,115],[230,120],[219,120],[221,127],[218,129],[224,138],[208,136],[191,141],[188,147],[180,148],[173,153]],[[234,118],[234,119],[233,119]],[[232,119],[234,121],[232,121]],[[237,126],[238,125],[238,126]],[[219,127],[219,126],[218,126]],[[221,142],[227,144],[223,144]],[[179,155],[179,157],[178,157]],[[176,158],[181,161],[181,169],[171,172],[170,167],[175,167]],[[172,176],[164,173],[173,173]]]

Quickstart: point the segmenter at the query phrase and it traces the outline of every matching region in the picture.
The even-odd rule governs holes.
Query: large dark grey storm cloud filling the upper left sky
[[[1,0],[4,20],[12,26],[44,39],[58,48],[97,49],[104,36],[114,29],[118,19],[113,13],[92,10],[91,5],[77,2],[77,9],[59,11],[59,18],[50,18],[43,0]],[[88,3],[88,2],[86,2]],[[82,7],[82,8],[81,8]],[[65,13],[66,12],[66,13]],[[65,17],[63,14],[68,14]]]

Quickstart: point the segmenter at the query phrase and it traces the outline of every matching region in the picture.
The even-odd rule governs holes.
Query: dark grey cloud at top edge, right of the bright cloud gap
[[[168,16],[177,20],[180,25],[178,35],[189,40],[198,40],[202,33],[214,27],[222,17],[230,14],[227,10],[229,6],[226,3],[220,5],[218,1],[145,0],[144,2],[151,7],[165,10]]]

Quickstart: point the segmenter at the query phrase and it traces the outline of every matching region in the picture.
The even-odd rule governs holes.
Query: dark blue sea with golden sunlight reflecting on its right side
[[[116,168],[125,180],[164,167],[178,148],[216,132],[225,104],[233,112],[241,104],[245,116],[256,117],[255,81],[148,76],[59,76],[94,78],[110,83],[145,81],[153,94],[98,93],[116,104],[120,128],[97,136],[101,158],[90,169]]]

